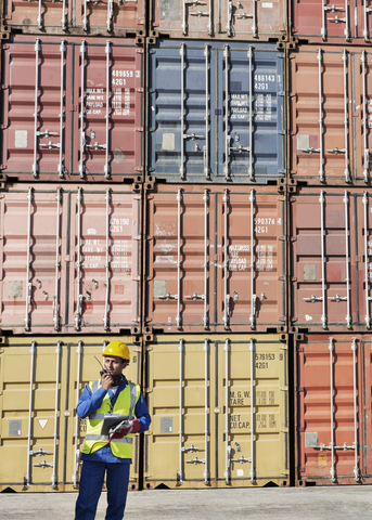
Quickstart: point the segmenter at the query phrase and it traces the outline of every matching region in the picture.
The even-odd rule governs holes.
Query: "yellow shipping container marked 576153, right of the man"
[[[288,485],[287,336],[154,336],[144,489]]]

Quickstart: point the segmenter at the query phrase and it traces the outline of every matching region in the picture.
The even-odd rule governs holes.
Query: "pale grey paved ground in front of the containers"
[[[75,493],[0,494],[1,520],[73,520]],[[97,520],[104,519],[102,494]],[[131,520],[372,520],[372,486],[129,493]]]

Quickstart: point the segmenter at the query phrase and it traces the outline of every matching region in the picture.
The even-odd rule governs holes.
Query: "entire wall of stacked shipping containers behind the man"
[[[133,490],[369,481],[357,8],[3,2],[1,490],[78,487],[118,337],[153,417]]]

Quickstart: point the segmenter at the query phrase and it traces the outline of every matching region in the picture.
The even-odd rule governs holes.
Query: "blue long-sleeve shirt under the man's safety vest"
[[[113,401],[115,402],[119,392],[121,392],[121,390],[124,390],[127,385],[128,385],[127,379],[124,379],[124,381],[120,382],[115,395],[111,392],[111,390],[108,390],[110,398],[112,398]],[[102,401],[106,395],[106,393],[107,393],[107,390],[105,390],[103,387],[100,387],[94,393],[92,393],[89,386],[87,385],[86,388],[82,390],[79,402],[77,403],[77,406],[76,406],[77,415],[81,418],[85,418],[85,417],[88,417],[93,412],[95,412],[97,410],[99,410],[101,407]],[[142,395],[142,392],[140,393],[139,400],[136,404],[134,415],[140,422],[140,433],[142,431],[146,431],[151,424],[151,417],[147,411],[147,405]],[[94,453],[90,453],[90,454],[82,453],[81,460],[92,460],[92,461],[102,461],[102,463],[124,463],[124,464],[131,463],[130,458],[115,457],[115,455],[113,455],[111,451],[110,444],[106,444],[105,446],[101,447]]]

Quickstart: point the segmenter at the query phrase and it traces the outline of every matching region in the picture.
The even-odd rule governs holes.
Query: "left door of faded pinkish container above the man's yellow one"
[[[60,188],[7,192],[1,204],[4,329],[54,333],[62,320],[64,202]],[[5,237],[5,238],[4,238]]]

